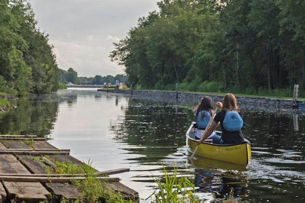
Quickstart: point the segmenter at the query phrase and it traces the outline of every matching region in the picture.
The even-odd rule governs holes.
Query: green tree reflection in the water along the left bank
[[[58,100],[54,94],[34,98],[23,97],[18,108],[0,114],[2,134],[29,134],[44,137],[50,134],[58,112]]]

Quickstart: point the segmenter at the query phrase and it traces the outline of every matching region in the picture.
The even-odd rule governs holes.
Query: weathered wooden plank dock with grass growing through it
[[[57,149],[45,138],[1,135],[0,151],[0,198],[3,202],[138,200],[136,191],[120,183],[119,178],[108,176],[129,169],[95,170],[90,161],[81,162],[69,155],[70,149]]]

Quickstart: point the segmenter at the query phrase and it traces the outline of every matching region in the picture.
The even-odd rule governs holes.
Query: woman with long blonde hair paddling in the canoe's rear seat
[[[242,112],[237,106],[236,98],[233,94],[228,93],[224,96],[223,102],[216,102],[216,105],[221,109],[214,117],[213,123],[205,136],[203,136],[197,144],[201,144],[207,137],[209,137],[217,124],[220,122],[222,135],[213,136],[213,143],[215,144],[236,144],[244,142],[242,134]]]

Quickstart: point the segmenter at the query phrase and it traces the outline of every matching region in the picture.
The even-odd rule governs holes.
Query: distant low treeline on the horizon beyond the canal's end
[[[110,82],[113,85],[115,81],[123,82],[124,84],[127,82],[127,76],[125,75],[95,75],[95,77],[78,77],[77,72],[73,68],[69,68],[67,71],[59,69],[59,79],[61,83],[66,84],[67,82],[72,82],[73,84],[78,85],[102,85],[104,82]]]

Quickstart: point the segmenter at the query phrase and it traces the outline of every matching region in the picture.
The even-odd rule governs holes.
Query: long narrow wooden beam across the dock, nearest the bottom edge
[[[95,177],[105,182],[119,182],[117,177]],[[41,182],[41,183],[69,183],[71,180],[84,180],[86,177],[29,177],[29,176],[0,176],[0,181],[9,182]]]

